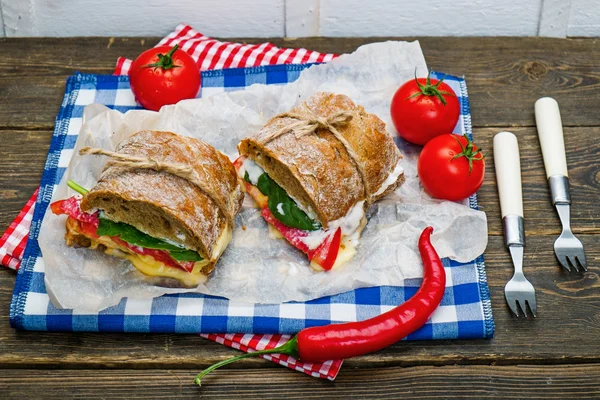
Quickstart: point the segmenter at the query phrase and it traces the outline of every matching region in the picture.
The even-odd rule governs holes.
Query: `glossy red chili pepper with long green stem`
[[[417,293],[405,303],[365,321],[307,328],[274,349],[255,351],[221,361],[196,376],[196,384],[200,385],[201,379],[209,372],[247,357],[277,353],[307,362],[337,360],[381,350],[416,331],[439,306],[446,287],[444,266],[431,245],[432,232],[433,228],[427,227],[419,238],[423,283]]]

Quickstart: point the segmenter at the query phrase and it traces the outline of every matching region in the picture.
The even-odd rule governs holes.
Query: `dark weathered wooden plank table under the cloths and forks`
[[[65,78],[110,74],[157,38],[0,39],[0,229],[37,187]],[[242,39],[244,40],[244,39]],[[351,52],[381,39],[273,39],[276,45]],[[259,39],[246,39],[260,42]],[[496,322],[493,340],[401,342],[345,361],[335,382],[261,359],[195,373],[234,350],[193,335],[15,332],[8,322],[15,273],[0,270],[2,398],[598,398],[600,397],[600,42],[596,39],[425,38],[430,67],[464,74],[474,136],[485,150],[510,130],[519,138],[526,273],[538,318],[514,318],[503,288],[512,264],[503,245],[492,153],[479,194],[489,220],[485,252]],[[554,258],[560,223],[550,204],[533,103],[555,97],[565,126],[572,226],[585,245],[586,274]]]

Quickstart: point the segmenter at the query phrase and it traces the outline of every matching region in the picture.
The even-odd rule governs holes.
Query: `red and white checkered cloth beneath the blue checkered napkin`
[[[336,57],[335,54],[322,54],[306,49],[278,48],[271,43],[248,45],[240,43],[220,42],[196,32],[188,25],[179,25],[174,32],[161,40],[157,46],[179,44],[180,48],[187,51],[196,60],[200,69],[222,69],[236,67],[255,67],[260,65],[276,64],[304,64],[310,62],[325,62]],[[126,75],[129,71],[131,60],[119,57],[115,68],[115,75]],[[33,193],[17,218],[10,224],[2,238],[0,238],[0,263],[1,265],[18,269],[33,217],[35,201],[38,190]],[[288,335],[255,335],[255,334],[202,334],[204,338],[241,351],[263,350],[282,345],[290,336]],[[279,354],[265,354],[261,357],[281,364],[285,367],[304,372],[317,378],[335,379],[342,360],[327,361],[324,363],[304,363]]]

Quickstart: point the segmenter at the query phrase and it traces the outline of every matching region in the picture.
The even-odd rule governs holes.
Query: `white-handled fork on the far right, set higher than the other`
[[[567,270],[587,271],[583,245],[571,232],[569,177],[563,138],[562,121],[558,103],[551,97],[542,97],[535,102],[535,122],[544,156],[546,177],[562,224],[562,233],[554,242],[554,254]]]

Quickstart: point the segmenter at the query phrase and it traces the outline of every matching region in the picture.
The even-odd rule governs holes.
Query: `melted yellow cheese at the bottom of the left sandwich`
[[[213,259],[217,259],[231,240],[231,229],[227,228],[221,233],[215,247],[213,249]],[[198,286],[201,283],[206,282],[207,276],[202,274],[202,268],[210,263],[209,260],[196,261],[192,272],[187,272],[182,269],[165,265],[164,263],[156,260],[154,257],[149,255],[141,255],[132,253],[127,247],[120,246],[115,243],[108,236],[100,236],[99,238],[90,238],[92,244],[91,249],[96,249],[98,245],[102,244],[106,247],[104,251],[106,254],[124,258],[129,260],[135,268],[141,273],[148,276],[156,276],[161,278],[173,278],[180,281],[183,285],[188,287]]]

